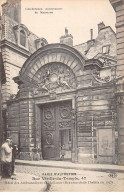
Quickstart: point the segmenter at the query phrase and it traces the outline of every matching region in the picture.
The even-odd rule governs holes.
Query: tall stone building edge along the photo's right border
[[[117,34],[117,128],[118,140],[118,161],[124,165],[124,1],[110,0],[116,12],[116,34]]]

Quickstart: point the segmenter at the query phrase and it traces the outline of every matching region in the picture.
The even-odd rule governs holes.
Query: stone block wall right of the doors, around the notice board
[[[97,131],[99,129],[115,130],[114,92],[114,86],[110,86],[84,89],[77,94],[77,145],[78,161],[81,163],[98,162]],[[116,155],[113,155],[117,156],[117,150]],[[107,159],[105,161],[107,162]]]

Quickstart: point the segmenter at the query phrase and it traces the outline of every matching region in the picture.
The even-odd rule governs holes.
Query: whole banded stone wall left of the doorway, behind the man
[[[34,102],[21,100],[8,105],[7,133],[19,133],[20,159],[32,160],[35,146]]]

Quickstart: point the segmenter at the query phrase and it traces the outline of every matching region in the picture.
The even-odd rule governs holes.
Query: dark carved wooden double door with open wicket
[[[59,160],[62,145],[71,151],[71,101],[44,104],[41,108],[41,145],[43,159]]]

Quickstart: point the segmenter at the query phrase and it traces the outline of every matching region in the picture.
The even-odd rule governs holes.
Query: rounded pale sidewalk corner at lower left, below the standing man
[[[46,182],[35,175],[17,173],[11,178],[0,178],[0,192],[45,192]]]

